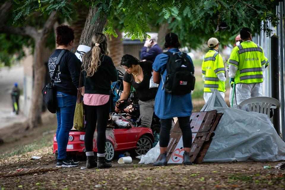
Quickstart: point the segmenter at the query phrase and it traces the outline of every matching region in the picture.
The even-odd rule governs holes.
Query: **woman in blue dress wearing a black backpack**
[[[183,163],[189,165],[192,164],[189,153],[192,144],[190,115],[193,109],[191,90],[194,90],[195,84],[194,65],[190,56],[179,51],[177,34],[168,33],[164,46],[167,52],[159,54],[153,63],[153,82],[159,84],[154,112],[161,121],[160,155],[153,165],[167,165],[167,145],[173,117],[178,117],[183,134]]]

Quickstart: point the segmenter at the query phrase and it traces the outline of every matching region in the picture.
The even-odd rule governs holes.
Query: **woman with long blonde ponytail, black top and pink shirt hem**
[[[86,114],[85,149],[87,168],[108,168],[105,160],[106,126],[110,112],[110,84],[118,80],[118,73],[108,56],[108,40],[102,33],[92,37],[91,50],[83,55],[82,68]],[[93,135],[97,123],[97,162],[93,153]]]

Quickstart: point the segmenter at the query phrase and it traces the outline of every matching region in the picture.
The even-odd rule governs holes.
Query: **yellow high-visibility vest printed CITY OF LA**
[[[268,62],[269,63],[269,62]],[[235,83],[262,83],[262,66],[266,64],[263,49],[252,41],[234,47],[228,64],[238,67]]]

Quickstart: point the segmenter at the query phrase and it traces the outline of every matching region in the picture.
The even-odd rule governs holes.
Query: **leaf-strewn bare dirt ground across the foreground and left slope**
[[[196,103],[195,107],[199,104]],[[31,131],[25,131],[20,125],[2,129],[0,135],[4,139],[4,144],[0,145],[0,156],[17,146],[39,142],[36,140],[47,138],[52,141],[56,129],[56,118],[48,115],[43,123],[44,125]],[[31,160],[32,156],[42,158]],[[113,167],[110,169],[80,169],[86,164],[85,161],[81,161],[78,167],[73,168],[59,168],[54,171],[14,177],[2,176],[17,169],[24,169],[22,172],[38,167],[55,169],[56,162],[52,154],[52,146],[49,145],[28,153],[0,159],[0,190],[285,189],[285,170],[274,168],[281,162],[224,162],[191,166],[172,164],[166,167],[154,167],[152,164],[138,164],[139,160],[136,158],[133,158],[132,164],[118,164],[117,161],[115,159],[111,162]],[[264,169],[264,166],[270,168]]]

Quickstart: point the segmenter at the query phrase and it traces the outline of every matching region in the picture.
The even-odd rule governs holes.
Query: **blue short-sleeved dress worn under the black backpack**
[[[177,48],[171,48],[168,51],[170,52],[178,52],[179,50]],[[181,54],[182,52],[178,53]],[[191,61],[192,65],[192,59],[190,56],[187,55],[189,60]],[[156,72],[160,72],[163,77],[163,81],[166,79],[166,63],[168,60],[168,55],[162,53],[156,56],[152,68]],[[193,65],[194,70],[194,65]],[[163,87],[163,82],[160,80],[160,84],[158,87],[158,91],[156,93],[155,97],[155,103],[154,103],[154,112],[160,119],[169,119],[173,117],[186,117],[191,115],[193,105],[192,105],[192,98],[191,94],[185,94],[185,95],[172,95],[165,93]]]

